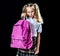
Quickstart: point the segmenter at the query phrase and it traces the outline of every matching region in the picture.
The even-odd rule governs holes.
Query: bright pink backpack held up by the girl
[[[21,49],[30,49],[32,47],[32,30],[28,21],[19,20],[14,24],[10,46]]]

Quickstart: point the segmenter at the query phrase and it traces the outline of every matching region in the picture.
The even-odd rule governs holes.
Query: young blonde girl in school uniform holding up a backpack
[[[22,9],[21,18],[26,18],[32,26],[33,46],[29,50],[18,49],[18,56],[37,56],[40,47],[40,34],[42,32],[43,20],[39,11],[39,6],[36,3],[28,3]]]

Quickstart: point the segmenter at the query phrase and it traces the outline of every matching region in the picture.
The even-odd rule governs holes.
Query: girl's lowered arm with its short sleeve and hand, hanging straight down
[[[39,25],[38,31],[37,31],[37,46],[35,48],[35,54],[39,53],[39,48],[40,48],[40,40],[41,40],[41,32],[42,32],[42,25]]]

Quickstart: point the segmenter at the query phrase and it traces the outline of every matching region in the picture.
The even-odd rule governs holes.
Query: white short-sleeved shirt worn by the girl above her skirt
[[[31,23],[32,27],[32,36],[37,37],[37,32],[42,33],[42,24],[39,22],[36,22],[36,19],[32,18],[26,18],[27,21]]]

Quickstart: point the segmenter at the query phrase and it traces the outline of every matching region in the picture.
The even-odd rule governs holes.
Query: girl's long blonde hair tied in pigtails
[[[27,11],[26,8],[27,7],[32,7],[34,9],[34,12],[35,12],[34,18],[37,19],[37,22],[40,22],[40,23],[43,24],[43,19],[42,19],[38,4],[28,3],[28,4],[24,5],[23,8],[22,8],[22,13],[26,13],[26,11]]]

